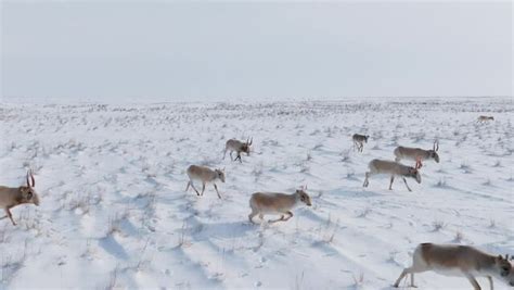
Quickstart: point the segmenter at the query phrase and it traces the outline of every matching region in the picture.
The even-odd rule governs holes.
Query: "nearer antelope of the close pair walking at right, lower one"
[[[421,184],[421,175],[416,168],[411,167],[411,166],[406,166],[398,162],[375,159],[370,162],[368,167],[370,171],[365,173],[364,184],[362,185],[363,187],[368,187],[368,185],[370,184],[368,179],[371,176],[378,175],[378,174],[390,175],[389,190],[393,190],[393,181],[395,181],[396,176],[401,176],[409,191],[412,191],[412,190],[407,184],[406,177],[412,177],[417,181],[417,184]]]

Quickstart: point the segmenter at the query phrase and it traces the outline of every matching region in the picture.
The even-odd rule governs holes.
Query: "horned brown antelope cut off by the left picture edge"
[[[31,181],[31,184],[30,184]],[[11,209],[21,204],[33,203],[39,206],[39,197],[34,187],[36,186],[36,180],[31,171],[27,173],[27,186],[21,187],[2,187],[0,186],[0,207],[2,207],[8,214],[0,219],[9,217],[13,225],[15,226],[13,215],[11,214]]]

